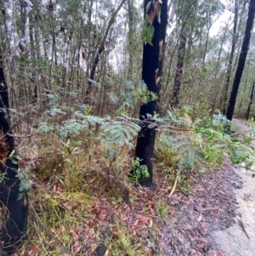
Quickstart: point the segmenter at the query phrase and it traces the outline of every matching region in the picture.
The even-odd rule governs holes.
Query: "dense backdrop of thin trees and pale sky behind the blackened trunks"
[[[225,111],[247,8],[247,1],[169,1],[161,113],[177,93],[179,107]],[[135,1],[4,1],[1,48],[15,117],[21,112],[32,124],[32,112],[48,107],[65,112],[61,122],[86,103],[96,116],[132,115],[128,94],[141,82],[143,20],[143,4]],[[245,117],[250,99],[252,42],[254,35],[236,117]]]

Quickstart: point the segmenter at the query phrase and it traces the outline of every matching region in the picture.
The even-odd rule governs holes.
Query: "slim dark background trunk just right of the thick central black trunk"
[[[180,36],[180,42],[178,47],[178,63],[176,66],[176,73],[174,77],[174,85],[173,85],[173,97],[172,97],[172,105],[173,107],[178,106],[178,94],[182,85],[183,80],[183,70],[184,70],[184,56],[185,56],[185,47],[186,47],[187,37],[182,33]]]

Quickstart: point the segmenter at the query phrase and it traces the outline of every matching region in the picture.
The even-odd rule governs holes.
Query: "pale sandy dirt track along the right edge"
[[[242,128],[246,128],[241,120],[234,120]],[[217,247],[221,248],[225,256],[254,256],[255,255],[255,167],[247,170],[242,166],[232,167],[241,176],[243,186],[234,190],[238,208],[236,209],[235,225],[226,230],[212,233]]]

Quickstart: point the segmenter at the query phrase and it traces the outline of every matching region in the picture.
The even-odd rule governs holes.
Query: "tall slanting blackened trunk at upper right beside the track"
[[[249,11],[248,16],[246,20],[246,31],[245,36],[243,39],[243,43],[241,46],[241,53],[239,56],[236,72],[235,72],[235,79],[233,82],[233,87],[231,90],[230,98],[229,98],[229,104],[226,112],[227,118],[231,121],[234,110],[235,110],[235,100],[238,93],[239,84],[241,81],[242,72],[244,70],[244,66],[246,64],[246,56],[248,53],[248,47],[250,43],[250,37],[251,37],[251,31],[252,31],[252,24],[254,20],[254,14],[255,14],[255,0],[250,0],[249,4]]]

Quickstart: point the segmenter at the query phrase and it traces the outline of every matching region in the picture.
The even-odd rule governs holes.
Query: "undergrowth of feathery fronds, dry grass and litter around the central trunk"
[[[23,184],[31,185],[29,240],[20,253],[160,255],[158,226],[173,214],[167,198],[174,185],[189,194],[193,174],[219,168],[227,155],[249,168],[254,157],[252,132],[225,134],[224,116],[191,112],[151,117],[156,193],[127,179],[132,168],[143,171],[133,158],[140,128],[134,117],[77,111],[62,126],[42,122],[37,139],[20,139]]]

